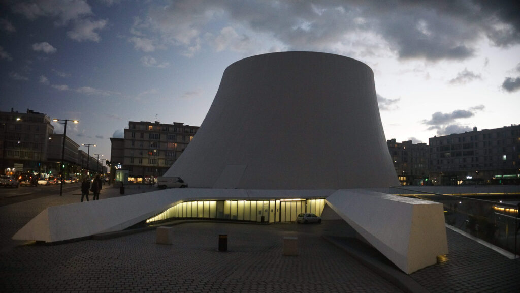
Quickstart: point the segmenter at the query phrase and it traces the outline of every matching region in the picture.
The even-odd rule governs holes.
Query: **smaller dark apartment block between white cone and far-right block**
[[[411,140],[387,140],[388,151],[400,185],[429,185],[430,148],[426,143],[414,144]]]

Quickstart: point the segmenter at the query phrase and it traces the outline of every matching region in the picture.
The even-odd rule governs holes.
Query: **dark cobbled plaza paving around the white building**
[[[105,187],[101,200],[121,196]],[[151,197],[154,190],[128,186],[125,195]],[[357,240],[343,221],[174,222],[172,245],[156,244],[155,230],[58,245],[11,239],[45,207],[80,199],[75,190],[0,207],[0,291],[520,292],[520,260],[450,229],[447,260],[411,275]],[[219,234],[228,235],[227,252],[218,251]],[[296,257],[282,254],[284,236],[297,237]]]

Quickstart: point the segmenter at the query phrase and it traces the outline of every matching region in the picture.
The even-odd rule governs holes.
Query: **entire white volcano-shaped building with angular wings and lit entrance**
[[[398,180],[373,72],[344,56],[283,52],[231,64],[165,176],[190,188],[49,207],[14,238],[60,241],[179,217],[288,222],[327,209],[406,273],[448,252],[442,204],[387,194]]]

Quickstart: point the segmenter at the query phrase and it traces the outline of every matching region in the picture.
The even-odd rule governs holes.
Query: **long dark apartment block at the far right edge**
[[[440,185],[520,184],[520,125],[433,137],[430,176]]]

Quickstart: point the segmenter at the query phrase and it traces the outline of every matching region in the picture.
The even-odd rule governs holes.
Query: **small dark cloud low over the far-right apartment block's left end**
[[[429,120],[423,120],[422,123],[428,125],[428,130],[437,130],[437,135],[449,135],[451,133],[462,133],[470,131],[469,126],[463,126],[457,123],[458,119],[465,119],[475,116],[476,112],[483,111],[484,105],[477,105],[467,110],[455,110],[451,113],[435,112]]]

